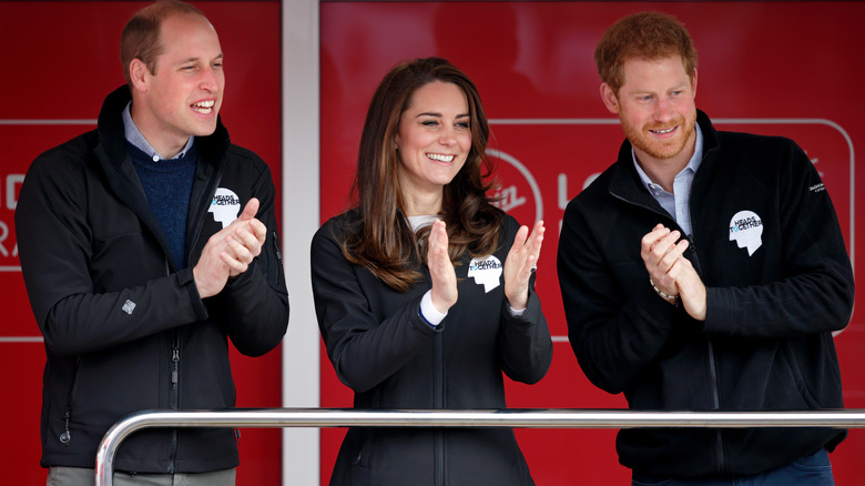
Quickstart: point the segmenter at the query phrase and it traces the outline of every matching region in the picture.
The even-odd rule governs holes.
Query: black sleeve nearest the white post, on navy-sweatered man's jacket
[[[263,161],[253,195],[261,205],[256,217],[267,227],[262,252],[253,264],[212,297],[220,310],[211,318],[223,322],[241,353],[261,356],[279,344],[288,327],[288,292],[285,284],[279,233],[276,227],[276,190]],[[210,305],[210,304],[208,304]]]

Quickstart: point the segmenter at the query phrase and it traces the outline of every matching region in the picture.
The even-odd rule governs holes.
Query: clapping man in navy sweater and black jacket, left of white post
[[[128,83],[98,128],[33,161],[16,211],[45,345],[49,485],[93,484],[100,441],[131,413],[233,407],[228,340],[260,356],[288,324],[275,188],[220,121],[213,26],[152,3],[121,60]],[[238,462],[231,428],[159,428],[124,442],[114,484],[233,485]]]

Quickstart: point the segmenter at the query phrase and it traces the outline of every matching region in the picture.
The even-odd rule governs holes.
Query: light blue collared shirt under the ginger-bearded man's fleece
[[[700,130],[699,124],[694,124],[694,131],[696,132],[694,154],[691,155],[691,160],[688,161],[688,165],[682,169],[682,172],[675,175],[672,194],[664,191],[660,184],[655,184],[649,179],[649,175],[645,174],[643,168],[637,162],[637,154],[634,154],[633,148],[631,149],[633,164],[637,168],[637,173],[640,174],[640,180],[643,181],[645,189],[648,189],[649,193],[661,204],[661,207],[673,216],[673,220],[675,220],[688,235],[691,234],[691,212],[688,210],[689,202],[691,201],[691,183],[694,181],[696,170],[703,161],[703,132]]]

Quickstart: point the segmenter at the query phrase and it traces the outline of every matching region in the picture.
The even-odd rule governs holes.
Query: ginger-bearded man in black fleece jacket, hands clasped
[[[632,409],[842,408],[832,332],[853,271],[793,141],[716,131],[674,18],[628,16],[596,49],[619,156],[564,212],[558,271],[580,367]],[[815,190],[815,188],[821,188]],[[631,428],[633,485],[832,485],[832,428]]]

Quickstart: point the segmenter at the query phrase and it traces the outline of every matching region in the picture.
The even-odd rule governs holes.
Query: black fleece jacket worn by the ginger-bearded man
[[[854,283],[828,192],[792,141],[718,132],[702,112],[698,122],[705,144],[685,256],[706,286],[706,320],[649,284],[640,240],[658,223],[679,226],[641,184],[625,141],[562,224],[559,282],[582,371],[634,409],[842,408],[832,332],[849,321]],[[747,475],[833,449],[844,434],[638,428],[620,432],[617,448],[643,474]]]

